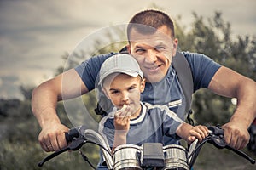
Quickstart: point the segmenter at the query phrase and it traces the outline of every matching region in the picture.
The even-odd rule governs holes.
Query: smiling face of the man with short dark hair
[[[147,82],[160,82],[172,63],[177,51],[177,39],[172,40],[171,30],[161,26],[153,34],[142,34],[131,30],[131,55],[137,59]]]

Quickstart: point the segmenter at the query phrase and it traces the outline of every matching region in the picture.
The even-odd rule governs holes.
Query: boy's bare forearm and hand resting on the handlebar
[[[193,142],[195,139],[201,141],[209,134],[207,127],[201,125],[193,127],[185,122],[177,127],[176,133],[179,137],[185,139],[189,143]]]

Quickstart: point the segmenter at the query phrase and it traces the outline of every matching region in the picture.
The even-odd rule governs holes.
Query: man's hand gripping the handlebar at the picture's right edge
[[[250,134],[243,123],[228,122],[222,128],[224,129],[224,139],[231,147],[241,150],[248,144]]]

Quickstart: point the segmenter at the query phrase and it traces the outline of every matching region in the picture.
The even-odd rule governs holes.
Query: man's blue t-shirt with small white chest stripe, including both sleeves
[[[100,71],[102,63],[114,54],[117,53],[102,54],[92,57],[75,68],[89,90],[96,88],[98,72]],[[189,52],[182,52],[182,54],[188,60],[191,68],[194,92],[200,88],[207,88],[212,77],[221,65],[218,65],[212,59],[203,54]],[[185,106],[187,104],[183,94],[183,89],[181,88],[177,78],[177,72],[174,70],[172,65],[170,66],[166,77],[164,77],[160,82],[146,82],[141,99],[143,102],[147,102],[152,105],[167,105],[169,109],[174,111],[182,120],[186,119],[187,113],[185,112]]]

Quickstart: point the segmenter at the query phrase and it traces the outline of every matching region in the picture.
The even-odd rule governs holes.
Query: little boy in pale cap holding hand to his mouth
[[[99,85],[115,106],[99,127],[112,151],[120,144],[163,143],[164,135],[177,140],[179,136],[189,143],[208,135],[207,127],[192,127],[166,105],[140,102],[145,79],[129,54],[114,55],[103,63]]]

